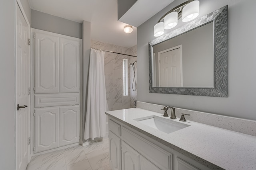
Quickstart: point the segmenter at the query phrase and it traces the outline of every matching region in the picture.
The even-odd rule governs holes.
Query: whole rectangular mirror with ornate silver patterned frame
[[[149,92],[228,96],[228,6],[148,43]]]

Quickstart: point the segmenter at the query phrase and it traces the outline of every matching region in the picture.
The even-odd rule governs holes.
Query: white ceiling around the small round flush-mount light
[[[159,1],[160,0],[152,0]],[[173,0],[165,1],[164,6],[155,8],[153,12],[144,13],[144,20],[137,22],[136,26],[148,20],[154,14],[162,10],[165,6],[170,4]],[[133,27],[133,32],[130,34],[124,33],[124,26],[126,23],[117,20],[117,0],[28,0],[30,8],[68,20],[82,23],[82,21],[89,21],[91,23],[91,39],[102,41],[122,47],[132,47],[137,44],[137,28]],[[142,0],[138,0],[142,2]],[[144,3],[136,3],[145,9],[148,6],[148,0]],[[135,4],[135,5],[136,5]],[[162,4],[162,3],[159,3]],[[136,11],[132,12],[132,20],[136,20]],[[139,15],[137,15],[139,16]]]

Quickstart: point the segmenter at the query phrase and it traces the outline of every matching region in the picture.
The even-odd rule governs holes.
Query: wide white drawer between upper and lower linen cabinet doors
[[[79,93],[35,94],[34,107],[66,106],[80,104]]]

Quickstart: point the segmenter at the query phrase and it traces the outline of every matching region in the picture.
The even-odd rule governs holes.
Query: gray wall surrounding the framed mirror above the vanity
[[[148,92],[148,42],[155,38],[153,27],[184,1],[174,1],[137,28],[138,101],[256,120],[255,0],[200,0],[200,16],[228,4],[228,98]],[[184,23],[179,20],[181,25]]]

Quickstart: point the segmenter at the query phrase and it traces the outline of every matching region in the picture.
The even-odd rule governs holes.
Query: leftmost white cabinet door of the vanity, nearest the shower
[[[121,169],[121,139],[114,135],[111,131],[108,132],[109,139],[109,164],[112,170]]]

